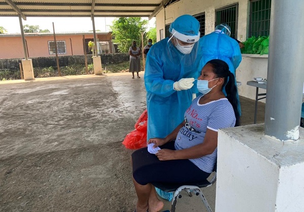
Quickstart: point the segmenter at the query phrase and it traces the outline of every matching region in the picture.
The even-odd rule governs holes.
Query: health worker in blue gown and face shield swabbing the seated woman
[[[170,25],[170,37],[151,46],[147,53],[147,140],[166,137],[183,121],[184,111],[192,102],[199,74],[199,29],[200,23],[193,16],[179,16]]]

